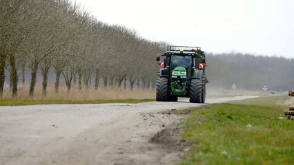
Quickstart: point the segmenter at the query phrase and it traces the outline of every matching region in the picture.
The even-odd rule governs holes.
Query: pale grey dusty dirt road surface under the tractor
[[[171,151],[150,138],[185,118],[162,112],[202,105],[183,99],[0,107],[0,164],[176,164],[183,151]]]

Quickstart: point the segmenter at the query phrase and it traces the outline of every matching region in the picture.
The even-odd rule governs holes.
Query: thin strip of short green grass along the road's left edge
[[[117,99],[117,100],[0,100],[0,106],[32,105],[32,104],[101,104],[101,103],[139,103],[155,101],[155,99]]]

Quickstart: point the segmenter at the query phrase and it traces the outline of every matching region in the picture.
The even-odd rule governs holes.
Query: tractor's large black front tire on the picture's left
[[[168,101],[168,78],[157,78],[156,101]]]

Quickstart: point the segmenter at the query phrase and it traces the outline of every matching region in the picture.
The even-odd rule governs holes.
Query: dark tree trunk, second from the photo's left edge
[[[10,54],[10,82],[12,84],[12,98],[17,97],[17,66],[15,63],[15,56],[14,54]]]

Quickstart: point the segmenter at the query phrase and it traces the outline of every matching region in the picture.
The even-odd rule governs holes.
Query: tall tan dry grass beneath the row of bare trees
[[[3,99],[12,99],[12,91],[8,88],[3,91]],[[66,85],[60,85],[58,93],[55,92],[55,85],[48,84],[47,94],[43,96],[42,85],[37,84],[35,87],[34,97],[29,96],[29,85],[21,85],[17,91],[17,98],[19,100],[121,100],[121,99],[153,99],[155,98],[155,89],[124,89],[121,87],[103,87],[99,86],[95,89],[92,85],[88,88],[82,87],[79,89],[77,85],[73,84],[70,92],[67,91]]]

